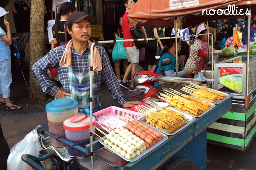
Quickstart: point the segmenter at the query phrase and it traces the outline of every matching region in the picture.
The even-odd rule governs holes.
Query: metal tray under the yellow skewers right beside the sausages
[[[175,134],[178,133],[179,131],[185,129],[188,125],[190,125],[191,123],[193,123],[193,122],[196,120],[196,118],[194,118],[193,116],[191,116],[191,115],[189,115],[189,114],[187,114],[187,113],[181,112],[181,111],[177,111],[177,110],[175,110],[173,107],[169,107],[169,106],[168,106],[167,108],[170,109],[170,110],[173,110],[173,111],[175,111],[175,112],[181,113],[185,118],[188,119],[188,120],[186,121],[186,122],[188,122],[188,123],[185,124],[184,126],[180,127],[179,129],[177,129],[175,132],[173,132],[173,133],[168,133],[168,132],[166,132],[166,131],[160,130],[160,129],[156,128],[155,126],[152,126],[152,125],[146,123],[146,118],[145,118],[145,117],[141,118],[139,121],[141,121],[141,122],[147,124],[148,126],[154,128],[154,129],[156,129],[156,130],[158,130],[158,131],[160,131],[160,132],[162,132],[162,133],[164,133],[164,134],[166,134],[166,135],[168,135],[168,136],[171,136],[171,135],[175,135]],[[171,130],[171,129],[170,129],[170,130]]]

